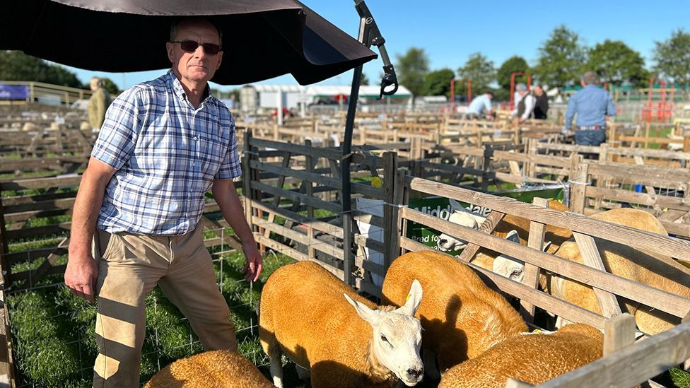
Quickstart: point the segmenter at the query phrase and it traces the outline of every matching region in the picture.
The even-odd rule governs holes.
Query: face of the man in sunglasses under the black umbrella
[[[220,37],[216,28],[211,23],[203,20],[182,21],[177,26],[175,41],[194,40],[198,43],[214,43],[219,45]],[[172,71],[180,77],[180,82],[189,84],[206,83],[216,74],[221,66],[223,52],[208,54],[199,45],[194,52],[185,52],[180,43],[166,44],[168,59],[172,62]]]

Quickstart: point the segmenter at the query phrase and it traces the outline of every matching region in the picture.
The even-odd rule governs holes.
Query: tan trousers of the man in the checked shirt
[[[100,230],[98,259],[99,353],[93,387],[139,387],[141,347],[146,333],[144,299],[158,284],[189,319],[205,351],[237,351],[230,310],[216,285],[204,227],[180,236],[143,236]]]

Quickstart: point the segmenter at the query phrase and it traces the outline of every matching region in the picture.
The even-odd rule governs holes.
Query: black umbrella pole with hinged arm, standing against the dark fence
[[[354,0],[355,8],[359,14],[359,37],[358,40],[366,47],[371,47],[376,45],[381,54],[381,59],[383,60],[383,72],[384,76],[381,80],[381,95],[392,95],[398,89],[397,78],[395,76],[395,70],[393,65],[390,63],[390,58],[385,49],[385,39],[381,35],[376,22],[371,16],[369,8],[364,4],[364,0]],[[352,257],[352,243],[353,243],[353,215],[352,215],[352,199],[351,199],[351,182],[350,182],[350,164],[352,156],[352,133],[355,124],[355,114],[357,112],[357,100],[359,99],[359,85],[362,81],[362,69],[363,66],[357,66],[354,69],[352,75],[352,87],[350,89],[350,100],[347,106],[347,117],[345,119],[345,135],[343,139],[343,158],[341,159],[341,183],[342,183],[342,199],[341,204],[343,205],[343,269],[344,269],[344,281],[350,286],[353,284],[352,268],[353,268],[353,257]],[[392,86],[392,88],[389,88]],[[375,168],[376,166],[374,166]]]

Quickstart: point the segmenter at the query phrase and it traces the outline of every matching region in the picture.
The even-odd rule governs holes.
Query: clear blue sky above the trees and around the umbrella
[[[331,23],[356,37],[359,25],[352,0],[302,0]],[[655,41],[666,40],[672,31],[690,30],[690,2],[687,0],[621,1],[452,1],[452,0],[366,0],[395,63],[397,54],[409,47],[425,50],[432,70],[448,67],[455,71],[470,54],[481,52],[495,66],[520,55],[532,64],[537,49],[558,25],[565,24],[580,35],[587,46],[606,39],[622,40],[652,64]],[[371,61],[364,72],[377,83],[380,59]],[[127,74],[98,73],[70,68],[82,81],[93,75],[107,76],[120,88],[156,78],[162,71]],[[323,81],[346,85],[351,73]],[[292,76],[263,83],[296,84]],[[236,86],[217,86],[228,90]]]

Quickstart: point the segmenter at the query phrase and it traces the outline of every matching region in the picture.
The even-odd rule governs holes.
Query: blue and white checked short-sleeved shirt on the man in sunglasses
[[[112,102],[91,156],[117,170],[98,215],[110,233],[194,230],[214,178],[242,172],[228,108],[209,94],[195,110],[172,71]]]

